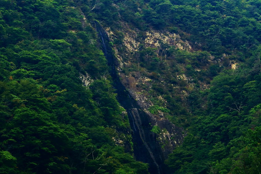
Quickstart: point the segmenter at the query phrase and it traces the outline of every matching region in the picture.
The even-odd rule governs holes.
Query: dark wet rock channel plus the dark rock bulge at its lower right
[[[163,115],[159,117],[151,114],[148,111],[148,106],[151,106],[149,102],[142,95],[136,95],[135,90],[124,85],[129,79],[120,79],[122,76],[117,71],[119,60],[113,54],[108,33],[99,23],[96,22],[95,26],[108,65],[111,67],[110,74],[113,77],[113,86],[117,89],[117,99],[129,117],[135,159],[149,163],[150,173],[165,173],[164,160],[173,148],[182,142],[183,129],[172,124]],[[153,127],[164,131],[153,132]]]

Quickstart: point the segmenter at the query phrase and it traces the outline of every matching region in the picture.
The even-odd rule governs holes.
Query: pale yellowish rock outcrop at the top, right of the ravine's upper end
[[[105,28],[105,31],[111,41],[114,41],[117,36],[109,28]],[[139,45],[143,44],[145,47],[158,48],[160,49],[160,42],[174,46],[181,50],[191,50],[192,47],[187,40],[182,40],[178,34],[171,33],[168,31],[149,30],[146,33],[141,31],[132,30],[127,23],[122,23],[122,28],[119,30],[124,34],[123,46],[125,47],[124,53],[119,52],[119,48],[113,47],[115,51],[115,57],[118,60],[119,66],[117,71],[121,72],[124,64],[130,64],[132,59],[135,59],[133,55],[139,50]],[[138,35],[144,35],[145,39],[140,39]],[[128,60],[124,60],[124,58]]]

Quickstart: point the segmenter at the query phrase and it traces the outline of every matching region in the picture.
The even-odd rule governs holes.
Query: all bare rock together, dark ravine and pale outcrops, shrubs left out
[[[192,48],[188,41],[182,41],[180,36],[175,33],[151,29],[148,32],[143,32],[145,39],[138,39],[137,32],[131,30],[127,23],[122,23],[122,25],[123,27],[119,31],[124,35],[122,44],[119,46],[110,44],[118,37],[110,28],[104,29],[97,22],[93,27],[97,30],[99,42],[108,60],[108,65],[111,67],[110,74],[113,77],[114,88],[117,89],[117,98],[126,109],[129,117],[135,158],[149,163],[151,173],[156,171],[156,173],[165,173],[163,162],[175,146],[182,143],[186,131],[184,131],[180,122],[171,123],[168,120],[170,117],[166,108],[168,102],[161,95],[157,96],[157,100],[164,104],[151,111],[154,104],[150,100],[152,96],[149,95],[149,91],[152,90],[153,83],[158,83],[159,86],[171,85],[172,88],[179,91],[178,93],[182,95],[184,101],[189,94],[187,91],[181,90],[180,86],[167,84],[168,82],[165,81],[167,79],[164,79],[164,77],[160,81],[151,79],[151,72],[140,67],[143,68],[143,72],[141,72],[139,65],[135,71],[128,73],[124,72],[124,69],[137,66],[137,54],[140,45],[144,45],[145,48],[152,48],[155,55],[166,63],[168,63],[168,59],[173,59],[173,57],[167,55],[169,47],[185,51],[190,51]],[[166,50],[163,50],[162,43],[168,46],[168,48],[165,48]],[[178,66],[182,67],[182,64]],[[185,86],[192,86],[193,88],[194,84],[191,77],[179,73],[176,74],[176,79],[186,81]],[[86,83],[84,79],[83,82]],[[203,85],[202,88],[204,88]],[[157,93],[157,91],[154,92]]]

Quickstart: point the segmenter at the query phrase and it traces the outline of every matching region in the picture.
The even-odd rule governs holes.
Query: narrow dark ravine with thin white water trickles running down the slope
[[[114,57],[112,48],[109,46],[108,35],[98,22],[95,22],[95,25],[102,50],[108,60],[108,65],[111,67],[110,75],[113,78],[113,87],[116,89],[117,99],[128,113],[135,159],[148,163],[151,174],[165,174],[164,160],[166,154],[164,156],[161,145],[157,141],[158,135],[151,132],[151,116],[141,109],[137,101],[131,97],[131,94],[121,83],[115,68],[117,60]],[[168,121],[165,122],[164,124],[170,124]]]

